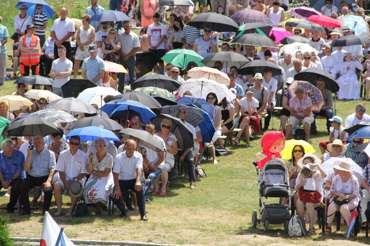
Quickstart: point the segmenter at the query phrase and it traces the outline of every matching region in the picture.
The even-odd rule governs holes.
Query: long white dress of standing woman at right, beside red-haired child
[[[360,83],[356,75],[356,68],[359,70],[363,69],[361,62],[343,62],[339,68],[340,77],[336,80],[339,85],[338,99],[361,99]]]

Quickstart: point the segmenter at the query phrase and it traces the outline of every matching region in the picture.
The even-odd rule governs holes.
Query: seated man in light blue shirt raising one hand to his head
[[[44,138],[34,138],[34,149],[28,148],[28,156],[24,164],[24,171],[28,172],[25,180],[20,186],[20,199],[23,205],[22,215],[30,214],[30,200],[28,191],[44,184],[45,198],[42,206],[42,213],[50,209],[51,198],[53,197],[51,181],[55,172],[55,154],[45,146]]]

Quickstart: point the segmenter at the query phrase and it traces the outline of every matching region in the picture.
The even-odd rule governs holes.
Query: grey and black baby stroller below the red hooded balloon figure
[[[261,170],[256,167],[259,186],[259,218],[257,211],[252,214],[252,226],[256,228],[257,222],[263,222],[263,231],[268,231],[269,224],[284,223],[284,231],[288,232],[290,215],[290,189],[287,166],[281,159],[266,162]],[[264,204],[263,197],[284,197],[288,204]]]

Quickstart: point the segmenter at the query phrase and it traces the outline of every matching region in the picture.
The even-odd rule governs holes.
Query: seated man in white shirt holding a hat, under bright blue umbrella
[[[69,149],[60,153],[55,170],[58,171],[59,179],[54,185],[54,198],[58,210],[53,216],[61,216],[62,211],[62,192],[68,190],[68,187],[73,181],[79,181],[82,186],[86,181],[87,174],[87,155],[80,149],[79,136],[72,136],[68,145]],[[76,206],[78,197],[71,196],[71,207],[66,213],[67,217],[72,217],[74,207]]]

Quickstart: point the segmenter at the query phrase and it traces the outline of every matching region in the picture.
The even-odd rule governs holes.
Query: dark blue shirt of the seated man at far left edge
[[[11,157],[7,157],[4,151],[0,151],[0,171],[4,176],[4,181],[9,180],[15,173],[21,174],[21,178],[26,178],[26,173],[23,169],[24,154],[18,149],[14,149]]]

